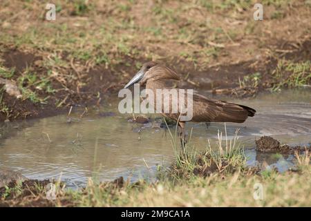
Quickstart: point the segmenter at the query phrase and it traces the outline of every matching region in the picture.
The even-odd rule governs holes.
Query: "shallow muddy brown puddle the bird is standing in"
[[[293,166],[292,156],[256,153],[254,140],[272,135],[290,145],[310,143],[311,91],[285,91],[234,102],[257,110],[257,115],[245,124],[226,125],[228,139],[240,128],[239,140],[249,157],[248,164],[264,160],[280,171]],[[88,177],[113,180],[122,175],[132,181],[153,179],[158,164],[168,165],[173,160],[167,130],[155,122],[128,122],[129,115],[117,111],[117,99],[106,101],[100,110],[89,111],[80,118],[82,111],[75,108],[70,118],[58,115],[2,124],[0,168],[34,179],[60,177],[74,187],[86,184]],[[188,124],[188,131],[191,128],[191,144],[202,149],[207,146],[207,139],[215,144],[217,132],[224,131],[224,124],[212,123],[208,129],[205,124]]]

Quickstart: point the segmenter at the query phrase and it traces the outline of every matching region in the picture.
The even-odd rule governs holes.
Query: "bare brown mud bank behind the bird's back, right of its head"
[[[180,86],[192,86],[200,90],[211,90],[213,94],[224,94],[238,98],[255,96],[257,93],[279,83],[278,81],[281,79],[275,79],[272,75],[279,60],[290,59],[299,62],[311,59],[311,39],[303,41],[299,48],[294,48],[293,44],[294,42],[281,41],[277,45],[270,45],[274,51],[286,51],[283,53],[276,52],[273,56],[259,56],[258,59],[241,61],[237,64],[218,65],[204,71],[194,71],[194,74],[189,75],[189,79],[180,83]],[[254,73],[261,74],[258,85],[240,85],[240,81],[243,81],[244,77]],[[287,77],[286,73],[285,77]]]

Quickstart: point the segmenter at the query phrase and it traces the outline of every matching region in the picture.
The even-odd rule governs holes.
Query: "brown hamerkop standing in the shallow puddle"
[[[138,71],[138,73],[129,81],[124,88],[129,88],[131,85],[140,82],[141,85],[146,84],[146,89],[150,89],[153,91],[153,107],[156,106],[156,102],[161,100],[162,108],[164,104],[169,104],[169,113],[164,113],[162,110],[162,115],[165,117],[169,117],[171,119],[176,120],[181,128],[181,142],[185,144],[186,142],[186,134],[185,133],[185,122],[180,119],[180,106],[178,105],[177,113],[171,113],[173,109],[171,105],[173,96],[169,96],[169,101],[164,100],[164,97],[156,97],[157,89],[171,89],[171,87],[167,86],[168,80],[180,80],[178,75],[161,64],[150,61],[143,64],[142,68]],[[187,90],[181,90],[176,88],[176,90],[183,91],[183,93],[187,94]],[[175,95],[176,96],[176,95]],[[177,95],[178,96],[178,95]],[[175,97],[176,98],[176,97]],[[148,99],[148,97],[147,97]],[[187,102],[186,102],[187,103]],[[152,102],[151,102],[152,104]],[[177,105],[175,103],[175,105]],[[187,105],[187,104],[186,104]],[[234,104],[230,102],[220,101],[216,99],[210,99],[203,95],[200,95],[196,92],[193,92],[192,99],[192,111],[193,117],[189,121],[191,122],[235,122],[235,123],[243,123],[247,119],[247,117],[253,117],[256,111],[253,108],[249,108],[248,106],[243,106],[241,104]],[[183,145],[182,145],[183,146]]]

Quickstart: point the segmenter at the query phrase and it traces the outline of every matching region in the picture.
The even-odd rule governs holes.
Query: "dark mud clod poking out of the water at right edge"
[[[311,146],[289,146],[288,144],[281,144],[273,137],[263,136],[258,140],[255,140],[256,151],[262,153],[282,153],[282,154],[294,154],[295,151],[301,153],[305,150],[311,149]]]

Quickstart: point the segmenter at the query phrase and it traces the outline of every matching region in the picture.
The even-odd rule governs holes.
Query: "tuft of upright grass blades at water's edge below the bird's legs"
[[[191,146],[191,134],[189,142],[182,148],[181,153],[178,151],[179,147],[176,141],[178,140],[177,126],[175,138],[170,130],[169,134],[176,155],[176,162],[171,166],[168,173],[173,180],[180,180],[180,178],[185,177],[191,178],[196,175],[205,177],[211,173],[232,173],[245,168],[246,157],[243,148],[239,148],[238,130],[234,134],[234,138],[228,140],[227,127],[225,126],[225,140],[223,139],[223,133],[218,131],[217,148],[212,147],[208,141],[207,148],[202,153],[197,153],[196,148],[193,145]]]

